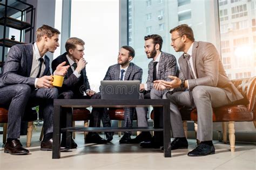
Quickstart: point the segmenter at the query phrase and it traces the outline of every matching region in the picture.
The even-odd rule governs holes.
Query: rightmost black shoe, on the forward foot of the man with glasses
[[[215,148],[213,145],[207,145],[204,143],[200,143],[193,151],[188,152],[187,155],[189,157],[200,157],[208,154],[214,154]]]

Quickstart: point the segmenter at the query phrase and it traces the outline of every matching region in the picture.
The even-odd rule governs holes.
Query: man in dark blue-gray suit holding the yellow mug
[[[59,46],[60,32],[48,25],[36,31],[36,42],[26,45],[15,45],[10,48],[0,79],[0,105],[9,108],[8,138],[4,152],[10,154],[28,154],[29,150],[22,147],[18,140],[21,119],[25,106],[39,105],[44,118],[44,139],[42,151],[52,150],[53,132],[53,99],[57,98],[58,90],[52,86],[49,58],[46,52],[54,52]],[[60,63],[55,75],[64,76],[69,66]]]

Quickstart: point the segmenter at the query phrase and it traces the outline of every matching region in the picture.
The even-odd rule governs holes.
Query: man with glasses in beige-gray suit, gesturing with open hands
[[[171,46],[176,52],[184,52],[179,58],[179,77],[170,76],[171,82],[154,81],[158,90],[173,89],[164,98],[171,101],[171,128],[174,140],[172,150],[187,148],[183,123],[178,105],[197,108],[200,144],[188,156],[214,154],[212,144],[212,107],[221,107],[240,100],[242,95],[226,76],[217,49],[209,42],[194,41],[193,31],[186,24],[170,31]],[[174,92],[175,91],[175,92]]]

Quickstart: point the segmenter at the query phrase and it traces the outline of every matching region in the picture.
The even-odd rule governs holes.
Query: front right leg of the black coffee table
[[[164,157],[171,157],[170,104],[163,106],[164,114]]]

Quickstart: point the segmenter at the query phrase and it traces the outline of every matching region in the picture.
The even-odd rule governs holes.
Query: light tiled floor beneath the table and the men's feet
[[[215,154],[188,157],[187,152],[196,145],[196,140],[190,139],[188,150],[175,150],[172,158],[164,158],[159,149],[120,145],[117,134],[106,145],[85,145],[83,133],[76,133],[75,140],[77,149],[62,152],[60,159],[51,159],[51,152],[40,151],[39,132],[34,132],[29,155],[6,154],[1,145],[0,169],[256,169],[256,144],[237,143],[231,153],[229,145],[214,141]],[[25,145],[26,136],[21,141]]]

